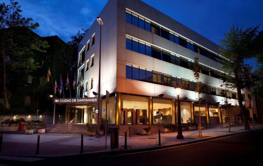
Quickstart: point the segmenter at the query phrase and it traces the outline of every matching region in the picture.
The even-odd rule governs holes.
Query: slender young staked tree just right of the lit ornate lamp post
[[[201,126],[201,110],[200,110],[200,104],[201,104],[201,97],[200,97],[200,94],[202,93],[201,91],[201,88],[203,86],[203,84],[199,81],[199,78],[200,78],[200,71],[201,71],[201,68],[200,66],[198,65],[199,62],[198,62],[199,58],[198,57],[194,57],[194,66],[193,66],[193,73],[194,73],[194,77],[195,77],[195,80],[196,80],[196,89],[195,89],[195,93],[198,93],[198,108],[199,108],[199,123],[198,123],[198,135],[199,137],[202,137],[202,126]]]

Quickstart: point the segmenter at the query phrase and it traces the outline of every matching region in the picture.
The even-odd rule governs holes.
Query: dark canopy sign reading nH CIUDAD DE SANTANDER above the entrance
[[[85,98],[57,98],[53,99],[53,104],[92,104],[98,103],[97,97],[85,97]]]

